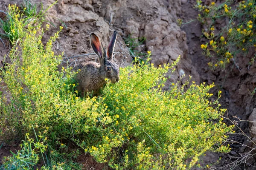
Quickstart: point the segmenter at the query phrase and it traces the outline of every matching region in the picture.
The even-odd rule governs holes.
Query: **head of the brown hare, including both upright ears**
[[[113,51],[116,43],[116,34],[116,31],[114,31],[114,34],[108,45],[108,53],[106,53],[99,37],[94,33],[90,34],[90,44],[93,48],[93,51],[99,57],[99,73],[103,78],[110,79],[111,83],[116,83],[120,79],[119,66],[113,62]]]

